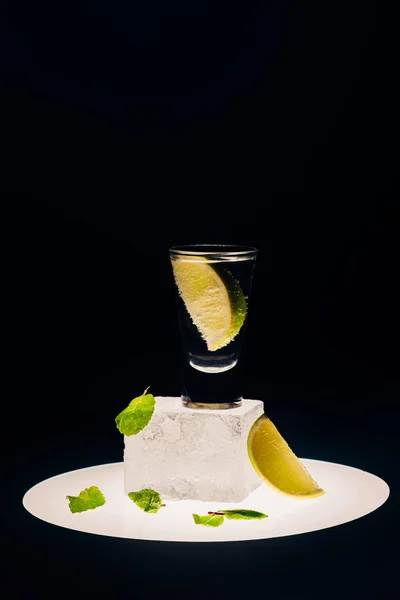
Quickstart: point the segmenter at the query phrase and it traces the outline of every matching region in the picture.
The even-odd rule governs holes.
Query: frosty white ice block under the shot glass
[[[124,436],[125,493],[143,488],[176,499],[241,502],[261,484],[247,454],[260,400],[242,406],[191,409],[179,397],[156,396],[150,423]]]

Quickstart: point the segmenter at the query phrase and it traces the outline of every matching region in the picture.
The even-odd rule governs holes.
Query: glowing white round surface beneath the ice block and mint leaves
[[[262,484],[241,503],[215,503],[162,498],[157,513],[146,513],[124,494],[124,465],[110,463],[46,479],[26,492],[23,505],[32,515],[59,527],[91,534],[168,542],[232,542],[308,533],[353,521],[379,508],[389,497],[383,479],[360,469],[301,459],[325,490],[319,498],[297,500]],[[106,504],[72,514],[66,498],[98,486]],[[266,519],[233,521],[219,527],[196,525],[193,513],[243,508],[268,515]]]

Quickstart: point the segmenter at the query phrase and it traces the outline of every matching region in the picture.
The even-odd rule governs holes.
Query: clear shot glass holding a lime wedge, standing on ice
[[[257,248],[172,246],[179,324],[181,397],[190,408],[233,408],[240,376]]]

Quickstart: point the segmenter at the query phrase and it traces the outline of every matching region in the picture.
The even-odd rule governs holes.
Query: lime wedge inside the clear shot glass
[[[246,298],[236,279],[220,264],[210,264],[203,257],[172,260],[172,269],[178,292],[208,350],[229,344],[247,314]]]

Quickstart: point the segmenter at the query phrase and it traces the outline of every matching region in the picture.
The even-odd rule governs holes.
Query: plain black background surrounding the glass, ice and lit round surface
[[[393,16],[289,0],[18,0],[0,15],[3,515],[27,573],[12,597],[392,597]],[[114,418],[145,387],[179,395],[168,248],[190,242],[258,247],[246,396],[299,456],[385,479],[381,509],[222,546],[90,536],[24,511],[42,479],[122,460]]]

